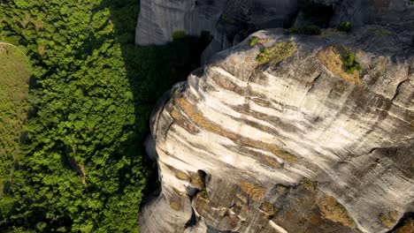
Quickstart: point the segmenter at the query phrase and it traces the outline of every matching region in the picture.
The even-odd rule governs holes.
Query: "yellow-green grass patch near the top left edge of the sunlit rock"
[[[271,48],[264,48],[257,56],[257,61],[260,64],[279,64],[289,56],[293,56],[296,51],[296,44],[294,41],[279,42]]]

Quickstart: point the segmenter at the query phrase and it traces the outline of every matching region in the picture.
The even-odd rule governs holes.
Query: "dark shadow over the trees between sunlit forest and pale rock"
[[[96,9],[109,8],[111,11],[115,40],[121,46],[126,76],[134,94],[135,133],[126,145],[131,156],[145,154],[143,142],[149,135],[149,117],[158,98],[200,66],[203,49],[211,41],[209,34],[203,34],[201,37],[185,36],[159,46],[135,45],[139,7],[137,0],[103,0]],[[144,197],[149,197],[160,186],[157,163],[150,161],[146,154],[143,157],[144,169],[149,174]]]

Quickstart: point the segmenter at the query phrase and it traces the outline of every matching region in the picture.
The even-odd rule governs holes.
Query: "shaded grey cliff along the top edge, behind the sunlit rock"
[[[213,36],[203,61],[249,34],[292,25],[414,24],[410,0],[142,0],[137,44],[172,41],[173,32]]]

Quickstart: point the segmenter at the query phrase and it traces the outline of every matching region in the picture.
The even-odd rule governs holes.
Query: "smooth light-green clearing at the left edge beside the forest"
[[[21,155],[30,75],[27,57],[14,46],[0,42],[0,199],[12,184],[13,167]]]

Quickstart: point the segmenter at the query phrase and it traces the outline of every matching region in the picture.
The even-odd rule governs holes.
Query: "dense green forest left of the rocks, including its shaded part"
[[[0,0],[0,42],[29,63],[20,55],[10,65],[23,74],[0,73],[28,87],[23,107],[0,100],[9,111],[0,116],[0,232],[139,231],[140,205],[157,184],[142,146],[150,111],[209,41],[134,45],[139,5]],[[4,119],[18,116],[6,131]]]

